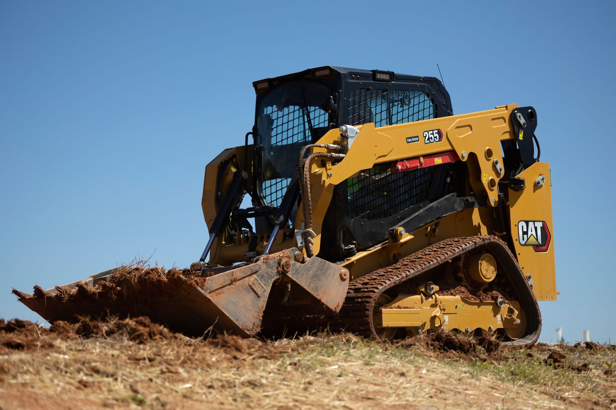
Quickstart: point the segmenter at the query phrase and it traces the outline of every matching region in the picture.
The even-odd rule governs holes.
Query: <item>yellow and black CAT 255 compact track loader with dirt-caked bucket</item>
[[[537,301],[558,293],[534,108],[453,115],[434,77],[333,66],[253,86],[245,144],[206,166],[199,262],[15,290],[20,301],[49,321],[147,315],[190,334],[482,329],[537,341]]]

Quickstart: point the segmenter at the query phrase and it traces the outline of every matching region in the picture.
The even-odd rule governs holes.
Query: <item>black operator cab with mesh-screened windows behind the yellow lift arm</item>
[[[449,93],[435,77],[324,66],[256,81],[253,86],[257,98],[251,196],[253,205],[261,207],[280,207],[301,147],[333,128],[368,122],[383,127],[453,114]],[[383,226],[406,218],[415,205],[436,199],[440,171],[392,173],[375,165],[339,184],[323,221],[330,228],[323,232],[331,233],[323,234],[319,256],[341,260],[349,244],[362,249],[386,240]],[[290,228],[294,215],[288,221]],[[256,233],[270,234],[272,221],[272,216],[257,217]]]

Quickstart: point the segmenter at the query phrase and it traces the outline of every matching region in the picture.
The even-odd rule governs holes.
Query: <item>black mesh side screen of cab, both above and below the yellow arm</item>
[[[421,91],[357,89],[349,93],[349,124],[374,122],[376,127],[436,117],[436,106]],[[428,199],[432,169],[392,173],[389,164],[363,170],[347,180],[349,215],[362,219],[389,218]]]

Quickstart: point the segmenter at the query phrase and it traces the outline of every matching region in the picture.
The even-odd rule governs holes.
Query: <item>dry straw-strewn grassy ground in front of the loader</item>
[[[139,337],[147,323],[126,321],[89,338],[62,326],[61,336],[30,328],[28,342],[4,334],[0,409],[603,409],[616,401],[610,349],[463,355],[422,340],[203,340],[154,327],[147,337]],[[20,337],[21,348],[7,347]],[[546,361],[554,350],[567,358]]]

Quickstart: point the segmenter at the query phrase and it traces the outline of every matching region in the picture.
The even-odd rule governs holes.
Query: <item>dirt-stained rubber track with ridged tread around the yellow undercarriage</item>
[[[347,291],[346,299],[344,299],[344,304],[338,313],[338,320],[334,320],[330,325],[333,325],[334,328],[342,328],[364,337],[374,337],[378,339],[373,327],[372,312],[375,307],[376,299],[380,294],[393,286],[400,285],[400,283],[410,278],[421,275],[427,270],[481,245],[492,245],[490,247],[501,245],[498,247],[506,250],[506,253],[509,254],[509,258],[511,258],[511,261],[513,261],[515,267],[517,267],[519,275],[521,275],[522,280],[524,280],[524,274],[522,274],[513,254],[511,254],[506,244],[498,237],[484,235],[446,239],[434,245],[427,246],[409,256],[405,256],[405,258],[400,259],[395,264],[352,280],[351,283],[349,283],[349,290]],[[500,250],[501,256],[506,257],[503,250]],[[524,283],[526,283],[525,280]],[[526,284],[525,287],[527,287],[527,290],[520,288],[519,290],[527,291],[532,294],[530,286]],[[537,307],[534,296],[532,296],[532,300],[535,307]],[[524,313],[527,317],[532,314],[531,312]],[[538,307],[537,315],[539,315]],[[538,328],[533,329],[532,334],[524,337],[523,341],[509,342],[508,344],[525,346],[535,344],[541,328],[540,323],[541,318],[539,316],[538,325],[535,326]]]

